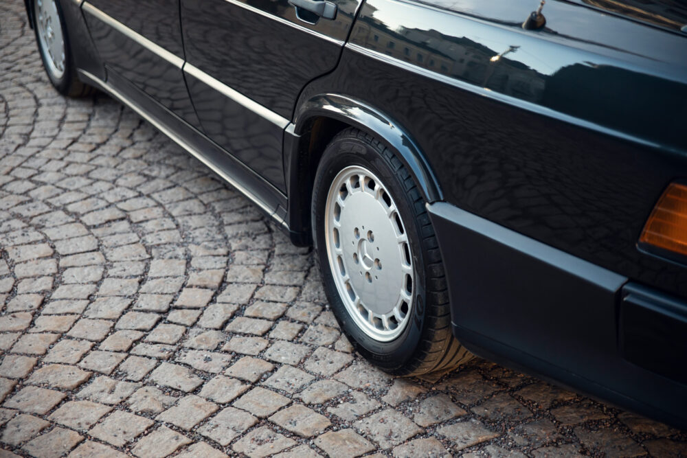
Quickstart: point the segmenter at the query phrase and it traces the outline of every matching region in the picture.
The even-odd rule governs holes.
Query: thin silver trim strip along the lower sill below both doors
[[[267,214],[269,214],[273,218],[273,220],[275,220],[275,222],[278,223],[278,225],[286,228],[287,230],[289,229],[289,225],[286,224],[286,221],[284,220],[284,218],[282,218],[281,216],[279,216],[278,214],[275,213],[275,209],[271,209],[271,208],[267,207],[267,205],[264,202],[262,202],[262,200],[258,196],[253,194],[253,192],[251,192],[247,187],[236,182],[236,180],[234,180],[234,178],[232,178],[232,176],[228,175],[221,168],[218,168],[216,165],[214,165],[214,163],[212,163],[211,161],[206,159],[205,156],[203,156],[203,154],[201,152],[199,152],[193,146],[186,143],[181,137],[179,137],[179,135],[174,133],[173,130],[170,130],[169,128],[167,128],[167,126],[165,126],[164,124],[159,122],[154,117],[151,117],[150,115],[148,115],[148,113],[146,113],[142,108],[140,108],[134,102],[132,102],[131,100],[126,98],[126,95],[122,94],[120,91],[117,91],[117,89],[113,88],[111,85],[107,84],[106,82],[104,82],[103,80],[101,80],[97,76],[93,75],[92,73],[89,73],[88,71],[79,69],[78,72],[80,74],[82,74],[85,78],[87,78],[88,80],[91,80],[91,81],[95,82],[95,84],[98,84],[102,89],[104,89],[104,91],[107,91],[115,99],[119,100],[120,102],[122,102],[123,104],[125,104],[126,106],[131,108],[140,117],[142,117],[146,121],[150,122],[150,124],[153,124],[153,126],[155,126],[155,128],[157,128],[157,130],[159,130],[161,133],[164,133],[164,135],[167,135],[168,137],[170,137],[170,139],[172,139],[172,141],[174,141],[176,144],[181,146],[181,148],[185,149],[193,157],[195,157],[196,159],[201,161],[203,164],[205,164],[207,166],[207,168],[210,168],[210,170],[212,170],[213,172],[215,172],[216,174],[221,176],[221,178],[223,180],[227,181],[227,183],[234,186],[236,188],[236,190],[238,190],[238,192],[243,193],[247,198],[249,198],[251,201],[253,201],[254,204],[258,205],[258,207],[260,207],[263,211],[265,211]]]

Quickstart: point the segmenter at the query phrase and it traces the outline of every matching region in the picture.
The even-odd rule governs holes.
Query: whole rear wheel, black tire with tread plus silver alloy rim
[[[361,130],[339,133],[319,161],[311,216],[327,298],[360,354],[397,376],[473,358],[453,337],[425,201],[394,152]]]

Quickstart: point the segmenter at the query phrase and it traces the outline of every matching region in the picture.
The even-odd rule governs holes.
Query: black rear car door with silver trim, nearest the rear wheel
[[[184,72],[205,134],[282,192],[283,130],[301,89],[337,64],[359,5],[300,1],[333,19],[288,0],[181,0]]]

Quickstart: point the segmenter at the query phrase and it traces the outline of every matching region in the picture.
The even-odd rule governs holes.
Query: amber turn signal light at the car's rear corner
[[[668,185],[644,225],[640,242],[687,255],[686,185]]]

